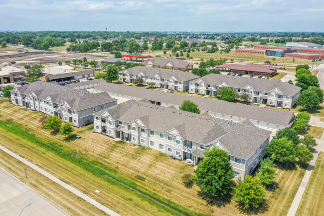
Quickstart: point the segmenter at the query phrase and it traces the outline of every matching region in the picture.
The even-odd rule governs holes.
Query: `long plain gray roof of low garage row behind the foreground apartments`
[[[261,108],[257,106],[247,106],[245,104],[231,103],[221,100],[205,99],[182,94],[171,94],[163,91],[154,91],[138,87],[130,87],[126,85],[112,84],[101,82],[94,89],[107,91],[137,97],[140,99],[148,99],[152,101],[164,102],[172,105],[181,105],[183,100],[191,100],[195,102],[200,110],[221,113],[225,115],[233,115],[242,118],[259,120],[283,126],[291,126],[293,112],[277,110],[271,108]]]

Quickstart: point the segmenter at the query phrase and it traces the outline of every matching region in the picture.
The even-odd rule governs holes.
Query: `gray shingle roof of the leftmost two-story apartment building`
[[[40,81],[16,87],[11,91],[15,91],[15,89],[26,95],[33,92],[41,99],[46,99],[49,96],[51,101],[57,104],[63,104],[66,101],[71,109],[76,111],[116,101],[107,92],[92,94],[85,90]]]

